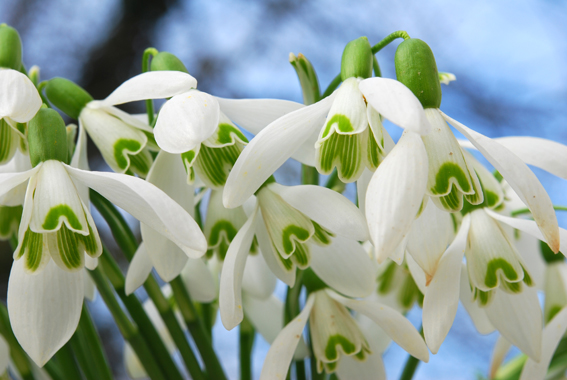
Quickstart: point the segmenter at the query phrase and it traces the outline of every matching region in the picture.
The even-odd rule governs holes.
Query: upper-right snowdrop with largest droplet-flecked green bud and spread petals
[[[413,56],[421,58],[414,60]],[[359,86],[370,105],[386,119],[406,129],[372,176],[366,192],[366,216],[379,260],[388,257],[407,235],[424,195],[438,207],[453,212],[462,209],[464,200],[472,205],[484,201],[482,181],[447,122],[508,181],[531,210],[545,241],[556,252],[559,229],[553,205],[533,172],[498,142],[438,109],[441,103],[439,77],[429,47],[416,39],[400,44],[396,73],[401,83],[370,78]],[[423,133],[427,131],[428,134]]]

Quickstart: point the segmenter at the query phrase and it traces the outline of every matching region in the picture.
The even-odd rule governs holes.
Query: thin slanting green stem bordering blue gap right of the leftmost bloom
[[[136,356],[140,360],[140,363],[144,366],[146,373],[151,379],[165,380],[167,377],[163,374],[158,362],[152,355],[150,349],[144,338],[140,335],[140,332],[136,325],[132,323],[128,315],[124,312],[118,300],[115,297],[114,291],[110,287],[108,281],[102,273],[102,269],[97,267],[96,269],[89,271],[91,278],[93,279],[100,296],[102,297],[104,303],[106,304],[108,310],[112,314],[114,321],[118,330],[130,343],[132,349],[136,353]]]

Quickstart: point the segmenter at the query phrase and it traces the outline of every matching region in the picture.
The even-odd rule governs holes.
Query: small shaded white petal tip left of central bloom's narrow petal
[[[189,259],[183,271],[183,282],[197,302],[213,302],[217,298],[217,282],[202,259]]]

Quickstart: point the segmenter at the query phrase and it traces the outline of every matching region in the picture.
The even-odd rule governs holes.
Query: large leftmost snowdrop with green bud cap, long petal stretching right
[[[81,269],[91,262],[85,256],[102,252],[81,188],[99,192],[184,251],[204,253],[206,242],[190,229],[191,216],[155,186],[67,165],[65,126],[55,111],[39,111],[28,141],[33,168],[0,174],[0,196],[27,182],[8,311],[18,341],[41,366],[75,331],[85,294]]]

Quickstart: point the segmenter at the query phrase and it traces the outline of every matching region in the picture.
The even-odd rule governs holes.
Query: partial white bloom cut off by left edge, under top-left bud
[[[0,165],[27,151],[26,125],[42,101],[32,81],[12,69],[0,68]]]

